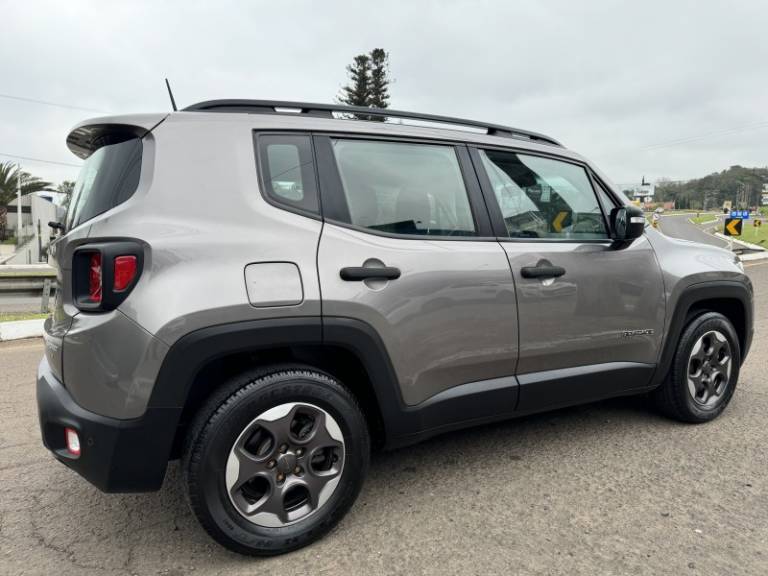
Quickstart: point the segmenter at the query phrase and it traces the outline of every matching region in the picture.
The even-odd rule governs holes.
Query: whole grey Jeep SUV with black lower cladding
[[[327,533],[372,447],[647,392],[712,420],[752,339],[732,253],[646,227],[541,134],[222,100],[67,144],[43,441],[107,492],[158,490],[180,458],[238,552]]]

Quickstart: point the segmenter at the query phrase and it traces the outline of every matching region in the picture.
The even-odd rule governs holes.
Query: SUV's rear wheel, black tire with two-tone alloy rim
[[[272,556],[306,546],[344,517],[369,458],[366,421],[349,390],[312,368],[276,366],[233,378],[199,410],[182,474],[214,540]]]

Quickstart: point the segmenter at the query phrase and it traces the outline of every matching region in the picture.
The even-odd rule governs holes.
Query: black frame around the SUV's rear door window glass
[[[336,157],[333,152],[333,139],[344,140],[364,140],[379,142],[395,142],[404,144],[422,144],[427,146],[446,146],[454,149],[456,159],[461,171],[464,189],[469,201],[469,208],[475,225],[474,236],[433,236],[419,234],[397,234],[374,230],[352,224],[349,216],[347,199],[344,194],[344,188],[339,174]],[[421,241],[454,241],[454,242],[489,242],[496,241],[496,235],[491,227],[488,206],[483,197],[480,184],[477,180],[476,171],[469,158],[467,145],[462,142],[432,140],[423,138],[409,138],[398,136],[382,136],[369,134],[348,134],[337,132],[313,132],[313,142],[315,148],[315,159],[320,186],[320,198],[323,203],[323,217],[329,224],[341,226],[351,230],[357,230],[373,236],[382,236],[386,238],[396,238],[401,240],[421,240]]]

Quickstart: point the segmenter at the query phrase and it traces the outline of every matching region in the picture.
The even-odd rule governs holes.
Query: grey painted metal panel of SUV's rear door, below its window
[[[318,263],[323,313],[376,330],[406,404],[514,374],[515,292],[497,242],[389,238],[326,224]],[[340,278],[341,268],[366,263],[401,276],[372,285]]]

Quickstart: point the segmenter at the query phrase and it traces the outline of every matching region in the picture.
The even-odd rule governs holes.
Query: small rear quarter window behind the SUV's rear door
[[[257,138],[267,196],[280,204],[319,213],[310,137],[261,134]]]

